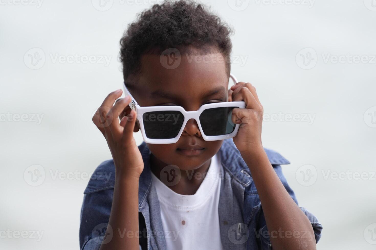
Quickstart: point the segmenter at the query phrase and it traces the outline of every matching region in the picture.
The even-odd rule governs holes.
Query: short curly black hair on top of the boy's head
[[[160,54],[168,48],[177,48],[182,52],[193,46],[208,54],[214,47],[228,59],[232,48],[231,32],[218,16],[194,1],[155,4],[138,14],[136,21],[128,26],[120,39],[124,81],[139,73],[142,55]],[[225,62],[229,75],[230,62]]]

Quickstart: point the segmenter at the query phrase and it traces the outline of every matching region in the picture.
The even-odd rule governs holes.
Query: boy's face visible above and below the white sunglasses
[[[219,52],[182,54],[176,69],[164,67],[159,55],[144,55],[138,77],[132,92],[140,106],[178,105],[186,111],[196,111],[204,104],[228,100],[229,77]],[[196,120],[191,119],[178,142],[148,146],[162,163],[176,165],[180,170],[193,170],[211,159],[222,142],[205,141]]]

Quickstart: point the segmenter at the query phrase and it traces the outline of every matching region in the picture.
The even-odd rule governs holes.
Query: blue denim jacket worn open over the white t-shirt
[[[140,249],[166,249],[166,231],[162,228],[161,211],[156,189],[152,184],[149,157],[150,150],[143,142],[139,150],[144,161],[144,170],[139,178],[138,211],[141,233]],[[265,149],[268,159],[276,171],[291,198],[297,200],[288,186],[280,165],[289,164],[279,153]],[[223,141],[220,148],[223,178],[220,187],[218,214],[220,237],[223,249],[262,249],[271,250],[270,236],[267,231],[260,199],[253,183],[249,168],[233,144],[232,139]],[[111,234],[123,237],[135,237],[120,230],[107,230],[111,212],[115,184],[115,166],[113,160],[100,164],[89,180],[84,192],[80,222],[80,249],[98,250],[105,234],[111,240]],[[321,237],[322,226],[317,218],[305,208],[300,208],[312,224],[315,241]],[[108,232],[111,231],[111,232]],[[275,232],[274,237],[285,232]],[[286,237],[309,237],[304,232],[290,232]],[[296,233],[296,236],[294,236]],[[210,239],[208,239],[210,240]],[[310,239],[313,240],[313,239]]]

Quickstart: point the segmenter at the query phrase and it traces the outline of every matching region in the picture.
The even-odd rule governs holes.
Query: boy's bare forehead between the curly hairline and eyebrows
[[[164,59],[174,59],[179,64],[171,69]],[[137,92],[143,99],[152,93],[168,93],[176,99],[194,102],[213,90],[221,89],[223,94],[227,94],[227,85],[226,64],[220,52],[205,55],[184,53],[180,58],[148,54],[141,59],[136,89],[141,90],[141,93]]]

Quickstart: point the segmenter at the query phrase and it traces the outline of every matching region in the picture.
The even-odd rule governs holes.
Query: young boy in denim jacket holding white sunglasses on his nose
[[[229,34],[217,16],[185,1],[153,6],[124,33],[132,98],[114,91],[93,117],[113,159],[85,190],[81,249],[316,249],[322,226],[298,207],[280,166],[289,162],[262,147],[255,87],[228,90]],[[157,111],[138,115],[136,102],[138,112]],[[218,130],[223,109],[208,109],[218,103],[229,108],[229,131]],[[158,107],[174,110],[170,121],[158,120]],[[199,109],[199,118],[183,119]],[[153,143],[137,147],[140,127]]]

